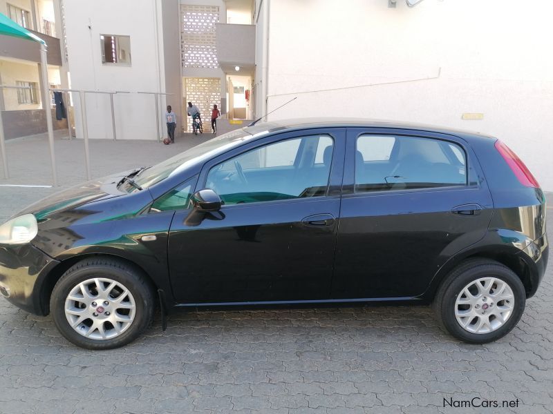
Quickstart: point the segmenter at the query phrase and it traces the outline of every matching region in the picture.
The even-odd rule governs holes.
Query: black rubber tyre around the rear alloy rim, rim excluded
[[[457,321],[456,300],[460,292],[473,281],[482,277],[494,277],[508,284],[514,296],[512,314],[495,331],[472,333]],[[509,333],[523,315],[526,293],[521,279],[507,266],[490,259],[469,259],[451,270],[444,278],[433,301],[433,310],[438,322],[451,335],[469,344],[487,344]],[[491,319],[490,319],[491,320]]]

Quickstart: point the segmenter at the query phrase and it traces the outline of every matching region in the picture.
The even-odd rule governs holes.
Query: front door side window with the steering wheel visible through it
[[[321,146],[321,162],[316,162]],[[325,195],[332,148],[328,136],[279,141],[214,166],[206,186],[227,206]]]

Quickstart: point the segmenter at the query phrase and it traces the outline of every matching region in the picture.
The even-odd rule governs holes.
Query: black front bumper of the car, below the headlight
[[[41,282],[58,263],[31,244],[0,245],[0,294],[24,311],[44,315]]]

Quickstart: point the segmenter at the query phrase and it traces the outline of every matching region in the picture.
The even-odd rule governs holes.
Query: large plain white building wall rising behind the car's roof
[[[552,15],[550,0],[424,0],[415,8],[401,0],[397,8],[386,0],[271,1],[268,110],[298,99],[269,119],[474,130],[503,139],[553,190]],[[259,25],[258,86],[266,80],[262,34]],[[437,79],[416,80],[424,78]],[[374,83],[390,84],[362,86]],[[484,119],[462,120],[463,112]]]

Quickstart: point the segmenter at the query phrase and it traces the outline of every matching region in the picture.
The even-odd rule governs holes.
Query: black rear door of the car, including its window
[[[424,131],[348,128],[343,192],[334,298],[421,295],[493,213],[468,144]]]

